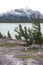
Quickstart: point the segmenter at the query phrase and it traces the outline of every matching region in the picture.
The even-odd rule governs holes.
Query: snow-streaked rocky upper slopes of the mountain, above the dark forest
[[[37,18],[37,16],[39,15],[39,17],[41,18],[41,19],[43,19],[43,15],[40,13],[40,12],[38,12],[38,11],[33,11],[33,10],[31,10],[31,9],[15,9],[15,10],[11,10],[11,11],[8,11],[8,12],[6,12],[6,13],[2,13],[2,14],[0,14],[0,17],[1,16],[8,16],[8,15],[16,15],[16,16],[27,16],[27,17],[31,17],[32,16],[32,18]]]

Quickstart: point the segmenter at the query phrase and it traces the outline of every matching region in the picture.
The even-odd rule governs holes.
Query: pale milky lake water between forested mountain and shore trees
[[[0,32],[3,35],[7,36],[7,32],[8,30],[10,31],[10,34],[13,38],[15,38],[15,34],[17,34],[16,32],[14,32],[15,27],[18,27],[19,24],[21,24],[23,27],[27,26],[28,27],[32,27],[31,23],[0,23]],[[41,23],[41,32],[43,33],[43,23]]]

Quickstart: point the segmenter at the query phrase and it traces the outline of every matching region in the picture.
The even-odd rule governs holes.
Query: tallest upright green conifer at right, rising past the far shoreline
[[[40,19],[39,17],[33,22],[33,38],[37,44],[42,44],[42,33],[40,27]]]

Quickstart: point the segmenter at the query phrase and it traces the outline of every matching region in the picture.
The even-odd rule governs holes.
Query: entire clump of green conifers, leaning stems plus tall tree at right
[[[22,39],[22,37],[27,42],[27,45],[31,45],[33,43],[36,44],[42,44],[42,33],[41,33],[41,26],[40,26],[40,18],[36,18],[34,22],[32,23],[32,29],[24,27],[22,28],[22,25],[19,25],[19,28],[15,28],[15,32],[18,33],[18,35],[15,35],[16,39]]]

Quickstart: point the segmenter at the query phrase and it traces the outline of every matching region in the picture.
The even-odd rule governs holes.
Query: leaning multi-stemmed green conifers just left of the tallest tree
[[[26,26],[24,27],[24,29],[22,28],[22,25],[19,25],[19,28],[15,28],[14,30],[15,32],[17,32],[18,34],[15,35],[16,39],[22,39],[24,38],[24,40],[27,42],[27,45],[32,44],[32,32],[30,28],[26,28]]]

